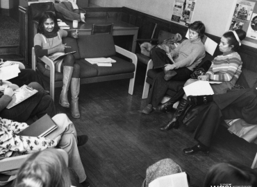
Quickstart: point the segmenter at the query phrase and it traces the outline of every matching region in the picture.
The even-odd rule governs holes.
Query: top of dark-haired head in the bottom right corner
[[[257,186],[257,172],[240,163],[217,163],[210,167],[204,187],[231,184],[231,186]]]

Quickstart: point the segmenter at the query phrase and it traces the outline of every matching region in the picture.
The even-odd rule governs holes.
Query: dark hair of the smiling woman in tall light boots
[[[54,12],[47,11],[42,13],[39,21],[38,21],[38,33],[44,34],[44,21],[47,21],[47,19],[53,19],[54,27],[53,27],[53,32],[58,32],[60,29],[57,23],[56,15]]]

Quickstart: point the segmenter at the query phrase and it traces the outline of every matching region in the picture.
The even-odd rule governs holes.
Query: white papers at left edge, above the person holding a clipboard
[[[11,78],[16,78],[19,72],[21,72],[19,71],[19,64],[3,66],[0,68],[0,80],[9,80]]]

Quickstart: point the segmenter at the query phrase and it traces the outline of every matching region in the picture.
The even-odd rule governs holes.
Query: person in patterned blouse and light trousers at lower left
[[[18,123],[0,118],[1,157],[15,157],[21,154],[38,152],[47,148],[62,148],[69,155],[69,167],[76,171],[80,182],[85,181],[85,170],[77,146],[84,145],[88,141],[88,136],[77,136],[74,124],[69,120],[66,114],[57,114],[53,116],[52,119],[56,125],[58,125],[58,128],[63,130],[63,134],[58,135],[56,139],[19,136],[17,134],[28,127],[26,123]],[[54,133],[54,131],[52,133]]]

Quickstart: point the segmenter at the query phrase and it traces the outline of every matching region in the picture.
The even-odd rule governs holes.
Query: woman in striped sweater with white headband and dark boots
[[[231,89],[231,87],[235,85],[235,82],[237,82],[240,73],[242,72],[242,60],[237,51],[240,48],[242,39],[245,37],[246,33],[241,29],[224,33],[219,44],[219,51],[222,51],[223,55],[219,55],[214,58],[210,69],[206,72],[206,75],[199,75],[199,80],[217,80],[222,82],[222,84],[210,84],[214,94],[226,93],[226,91]],[[186,86],[195,81],[197,80],[190,79],[185,82],[184,85]],[[184,91],[181,89],[176,96],[168,100],[163,105],[159,105],[156,110],[159,112],[165,112],[172,109],[174,103],[176,103],[183,94]],[[180,100],[179,106],[176,108],[176,112],[174,113],[172,120],[169,121],[167,125],[160,127],[160,130],[171,130],[172,127],[176,125],[177,119],[186,108],[186,99],[187,97],[184,95]]]

